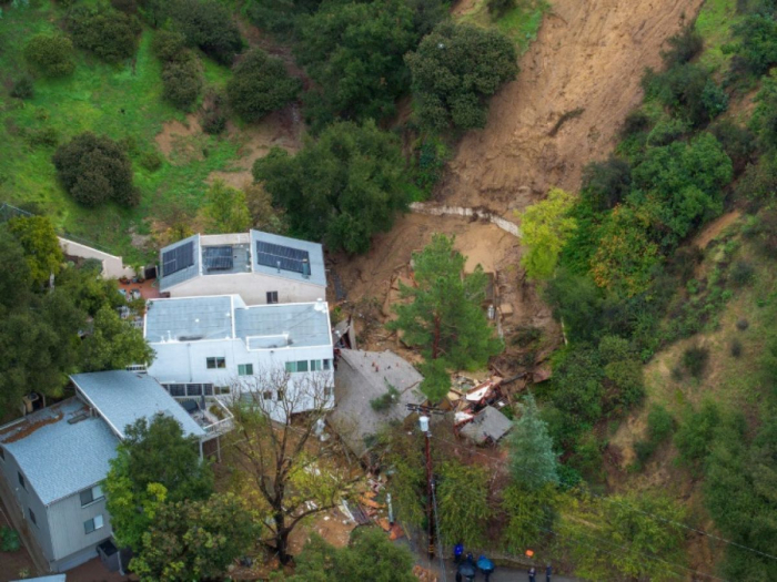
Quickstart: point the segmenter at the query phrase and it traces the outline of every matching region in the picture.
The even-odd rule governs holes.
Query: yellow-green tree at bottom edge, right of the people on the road
[[[645,492],[572,499],[559,540],[569,543],[575,573],[592,580],[675,580],[684,560],[684,508]]]

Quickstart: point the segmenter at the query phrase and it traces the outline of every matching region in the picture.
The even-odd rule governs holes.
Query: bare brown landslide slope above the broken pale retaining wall
[[[462,140],[441,188],[445,203],[505,212],[551,186],[576,191],[583,166],[612,152],[639,104],[644,68],[660,64],[664,41],[702,3],[554,1],[518,79],[492,99],[486,127]]]

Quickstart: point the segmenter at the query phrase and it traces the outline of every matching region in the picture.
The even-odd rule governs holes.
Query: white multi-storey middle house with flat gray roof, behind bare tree
[[[299,402],[300,412],[330,407],[333,347],[325,302],[248,306],[239,295],[180,297],[148,303],[143,335],[157,356],[148,368],[172,396],[262,392],[269,408],[317,382],[323,395]],[[280,371],[283,387],[261,385]],[[306,388],[305,388],[306,389]],[[224,396],[224,398],[229,398]]]

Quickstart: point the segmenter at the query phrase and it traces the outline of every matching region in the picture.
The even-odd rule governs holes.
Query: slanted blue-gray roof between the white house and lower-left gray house
[[[71,379],[121,438],[128,425],[160,412],[178,420],[184,435],[205,435],[183,407],[147,374],[94,371],[75,374]]]

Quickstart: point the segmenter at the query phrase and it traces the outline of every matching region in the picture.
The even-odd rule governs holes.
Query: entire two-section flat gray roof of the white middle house
[[[145,313],[145,338],[153,344],[242,339],[249,349],[332,344],[325,303],[246,307],[239,295],[150,300]]]

